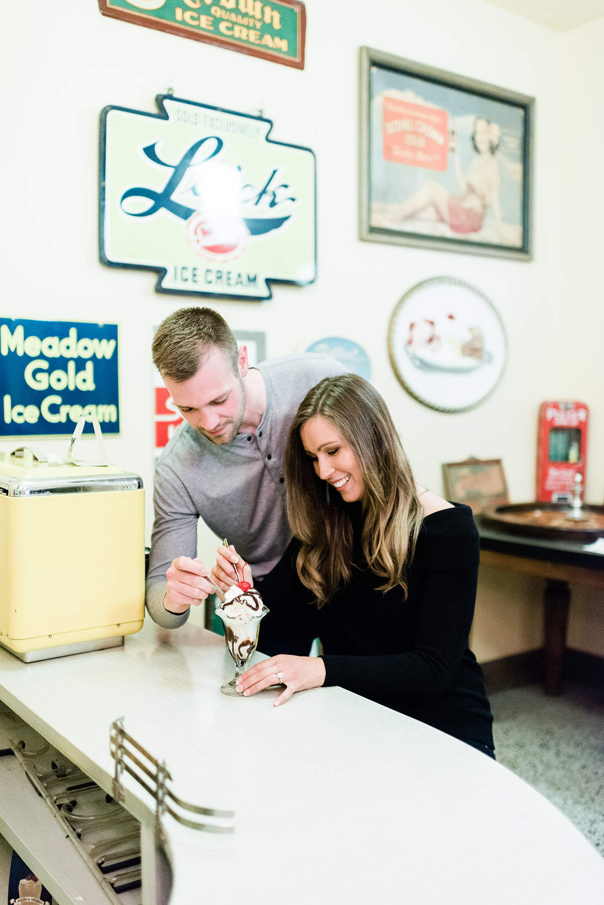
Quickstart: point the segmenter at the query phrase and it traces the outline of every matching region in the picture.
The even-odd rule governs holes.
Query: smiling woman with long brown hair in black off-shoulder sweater
[[[281,593],[261,586],[275,618],[260,649],[275,650],[278,638],[286,651],[304,637],[308,651],[319,636],[323,654],[277,653],[245,672],[239,691],[254,694],[280,676],[280,705],[294,691],[340,685],[494,757],[483,675],[468,647],[479,559],[472,510],[416,487],[388,408],[354,374],[306,395],[285,473],[295,567],[316,605],[301,605],[291,580]],[[233,567],[219,552],[216,578],[228,586]]]

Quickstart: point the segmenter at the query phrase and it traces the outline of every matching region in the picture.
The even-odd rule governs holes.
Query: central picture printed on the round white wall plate
[[[480,327],[454,314],[412,321],[406,351],[415,367],[424,371],[465,374],[492,360]]]

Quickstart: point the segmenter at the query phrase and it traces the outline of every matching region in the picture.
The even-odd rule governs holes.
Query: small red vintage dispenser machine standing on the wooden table
[[[590,410],[582,402],[544,402],[539,409],[537,501],[571,502],[580,473],[585,500],[585,462]]]

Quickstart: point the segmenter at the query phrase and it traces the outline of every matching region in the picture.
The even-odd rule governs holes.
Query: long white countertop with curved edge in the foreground
[[[108,789],[123,715],[176,795],[235,810],[232,836],[164,819],[172,905],[601,903],[604,859],[491,758],[340,688],[227,698],[234,672],[223,638],[148,619],[123,649],[29,665],[0,650],[0,698]]]

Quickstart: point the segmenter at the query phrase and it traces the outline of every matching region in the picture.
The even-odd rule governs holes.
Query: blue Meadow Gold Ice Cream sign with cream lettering
[[[120,432],[117,324],[0,318],[0,436]]]

